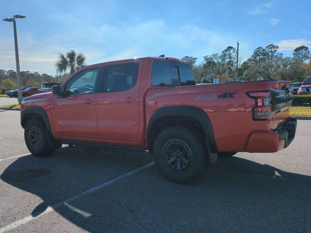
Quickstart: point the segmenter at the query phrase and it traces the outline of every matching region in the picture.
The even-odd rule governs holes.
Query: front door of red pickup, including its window
[[[98,68],[77,73],[62,89],[65,95],[53,95],[52,125],[65,139],[100,139],[96,129],[94,86]]]

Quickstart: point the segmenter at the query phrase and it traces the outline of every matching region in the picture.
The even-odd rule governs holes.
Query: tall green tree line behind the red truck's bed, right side
[[[253,54],[239,65],[238,79],[255,81],[263,78],[302,82],[306,76],[311,75],[311,53],[307,46],[297,47],[293,57],[284,56],[278,49],[274,44],[255,49]],[[235,80],[237,50],[231,46],[221,54],[205,56],[201,64],[196,64],[196,57],[185,56],[181,60],[188,62],[193,68],[197,83],[213,83],[214,78],[219,78],[220,83]]]

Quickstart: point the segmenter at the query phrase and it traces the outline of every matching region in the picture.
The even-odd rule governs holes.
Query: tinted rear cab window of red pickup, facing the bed
[[[189,65],[177,62],[154,61],[151,73],[152,86],[189,86],[195,85]]]

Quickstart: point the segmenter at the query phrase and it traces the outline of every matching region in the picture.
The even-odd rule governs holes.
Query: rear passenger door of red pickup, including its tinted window
[[[136,142],[142,61],[114,64],[104,68],[96,94],[97,130],[105,142]]]

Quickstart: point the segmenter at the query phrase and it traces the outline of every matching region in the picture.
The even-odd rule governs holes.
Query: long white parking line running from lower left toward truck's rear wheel
[[[61,207],[61,206],[63,206],[63,205],[66,206],[66,204],[69,204],[70,202],[72,202],[72,201],[74,201],[74,200],[77,200],[77,199],[79,199],[79,198],[81,198],[81,197],[84,197],[84,196],[86,196],[86,195],[92,194],[92,193],[94,193],[94,192],[96,192],[96,191],[98,191],[98,190],[100,190],[100,189],[102,189],[102,188],[104,188],[104,187],[106,187],[106,186],[109,186],[110,184],[113,184],[113,183],[116,183],[116,182],[118,182],[118,181],[121,181],[122,179],[124,179],[124,178],[126,178],[126,177],[128,177],[128,176],[134,175],[134,174],[136,174],[136,173],[138,173],[138,172],[140,172],[140,171],[142,171],[142,170],[144,170],[144,169],[146,169],[146,168],[148,168],[148,167],[150,167],[150,166],[153,166],[153,165],[155,165],[155,162],[151,162],[151,163],[149,163],[149,164],[147,164],[147,165],[145,165],[145,166],[141,166],[141,167],[139,167],[139,168],[137,168],[137,169],[135,169],[135,170],[132,170],[132,171],[130,171],[130,172],[127,172],[127,173],[125,173],[125,174],[123,174],[123,175],[121,175],[121,176],[119,176],[119,177],[116,177],[116,178],[110,180],[110,181],[107,181],[107,182],[102,183],[102,184],[100,184],[100,185],[98,185],[98,186],[95,186],[95,187],[93,187],[93,188],[90,188],[90,189],[88,189],[88,190],[86,190],[86,191],[84,191],[84,192],[82,192],[82,193],[79,193],[79,194],[77,194],[77,195],[75,195],[75,196],[73,196],[73,197],[71,197],[71,198],[69,198],[69,199],[67,199],[67,200],[64,200],[64,201],[59,202],[59,203],[57,203],[57,204],[55,204],[55,205],[52,205],[52,207],[48,207],[48,208],[47,208],[45,211],[43,211],[43,212],[37,212],[37,213],[34,213],[34,214],[31,215],[31,216],[27,216],[27,217],[24,217],[24,218],[22,218],[22,219],[20,219],[20,220],[17,220],[16,222],[13,222],[13,223],[11,223],[11,224],[5,226],[5,227],[0,228],[0,233],[3,233],[3,232],[6,232],[6,231],[9,231],[9,230],[12,230],[12,229],[14,229],[14,228],[17,228],[17,227],[19,227],[19,226],[21,226],[21,225],[27,223],[27,222],[30,222],[30,221],[32,221],[32,220],[35,220],[36,218],[38,218],[38,217],[40,217],[40,216],[43,216],[43,215],[45,215],[45,214],[50,213],[50,212],[51,212],[52,210],[54,210],[54,209],[57,209],[57,208],[59,208],[59,207]]]

